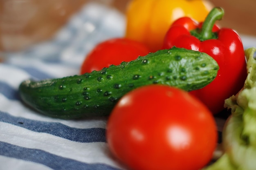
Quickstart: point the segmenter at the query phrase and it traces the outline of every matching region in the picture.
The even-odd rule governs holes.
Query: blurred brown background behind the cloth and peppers
[[[225,10],[221,26],[256,36],[255,0],[209,0]],[[129,0],[0,0],[0,51],[20,51],[51,38],[89,2],[124,14]]]

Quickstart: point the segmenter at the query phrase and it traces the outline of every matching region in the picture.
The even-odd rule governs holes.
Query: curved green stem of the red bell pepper
[[[209,40],[212,38],[212,29],[217,20],[221,20],[224,15],[224,10],[221,7],[213,8],[207,15],[202,25],[202,31],[200,33],[203,40]]]

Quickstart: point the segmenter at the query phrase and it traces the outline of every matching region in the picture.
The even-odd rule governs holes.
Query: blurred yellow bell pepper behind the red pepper
[[[211,4],[206,0],[131,0],[126,11],[126,37],[162,48],[164,36],[174,20],[188,16],[203,21]]]

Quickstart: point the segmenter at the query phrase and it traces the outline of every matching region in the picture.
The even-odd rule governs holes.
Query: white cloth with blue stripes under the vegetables
[[[22,104],[19,84],[79,74],[95,44],[124,35],[118,11],[88,4],[56,36],[0,63],[0,170],[126,170],[106,143],[107,117],[53,119]],[[225,122],[216,118],[219,134]],[[220,141],[219,141],[220,143]]]

